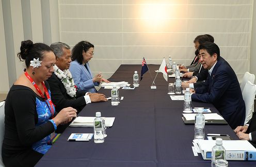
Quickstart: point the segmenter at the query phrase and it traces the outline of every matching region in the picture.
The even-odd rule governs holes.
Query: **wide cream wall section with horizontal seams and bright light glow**
[[[94,44],[94,73],[109,77],[120,64],[177,63],[194,58],[196,36],[211,34],[238,78],[249,70],[251,0],[60,0],[60,39]],[[140,69],[137,69],[140,71]]]

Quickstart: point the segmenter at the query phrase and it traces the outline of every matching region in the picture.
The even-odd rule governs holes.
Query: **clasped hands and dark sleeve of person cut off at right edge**
[[[248,140],[256,148],[256,114],[252,115],[251,120],[245,126],[235,128],[236,136],[241,140]]]

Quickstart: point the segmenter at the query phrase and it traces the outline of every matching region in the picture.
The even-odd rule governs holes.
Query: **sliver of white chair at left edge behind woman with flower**
[[[0,166],[4,166],[2,159],[2,145],[5,135],[5,101],[0,102]]]

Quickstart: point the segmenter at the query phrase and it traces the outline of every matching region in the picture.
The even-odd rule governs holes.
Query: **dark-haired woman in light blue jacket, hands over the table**
[[[95,93],[97,92],[95,86],[99,86],[100,82],[109,82],[102,78],[101,73],[92,76],[89,61],[94,55],[93,52],[94,46],[88,41],[78,42],[72,49],[72,62],[69,70],[78,91]]]

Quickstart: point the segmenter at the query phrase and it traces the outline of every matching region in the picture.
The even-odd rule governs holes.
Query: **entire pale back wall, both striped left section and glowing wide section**
[[[188,64],[194,57],[194,38],[211,34],[238,78],[249,70],[256,74],[252,0],[0,2],[0,93],[8,92],[22,73],[17,53],[21,41],[27,39],[71,46],[88,40],[95,45],[92,71],[108,78],[120,64],[140,64],[143,56],[148,63],[160,64],[171,55],[177,63]]]

